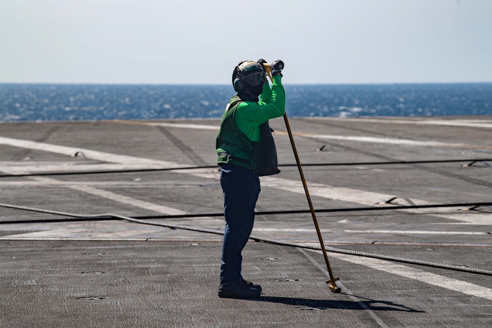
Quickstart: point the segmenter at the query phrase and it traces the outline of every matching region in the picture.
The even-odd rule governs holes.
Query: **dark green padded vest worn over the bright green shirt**
[[[273,130],[268,121],[260,128],[261,141],[252,142],[235,124],[236,109],[243,102],[236,94],[229,101],[222,116],[220,130],[215,142],[218,159],[217,164],[224,163],[242,166],[253,170],[258,176],[271,176],[280,173],[277,167],[277,148],[275,147]]]

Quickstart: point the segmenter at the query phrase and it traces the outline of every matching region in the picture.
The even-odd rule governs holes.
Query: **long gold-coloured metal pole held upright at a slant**
[[[270,78],[270,81],[273,81],[273,77],[271,74],[271,66],[269,64],[264,64],[265,71]],[[338,280],[338,277],[333,276],[332,268],[330,267],[330,261],[328,260],[328,255],[325,249],[325,243],[323,242],[323,237],[321,236],[321,231],[319,230],[318,220],[316,219],[316,214],[314,213],[314,208],[312,206],[311,197],[309,196],[309,190],[307,190],[306,179],[304,179],[303,168],[301,166],[301,161],[299,160],[299,155],[297,154],[296,144],[294,143],[294,137],[292,135],[292,131],[290,129],[289,120],[287,119],[287,113],[283,114],[283,120],[285,121],[285,127],[287,128],[287,132],[289,134],[290,144],[292,145],[292,150],[294,151],[294,156],[296,157],[297,168],[299,169],[299,174],[301,175],[301,180],[303,181],[304,192],[306,193],[307,204],[309,204],[309,209],[311,211],[312,220],[314,222],[314,227],[316,228],[316,233],[318,234],[319,243],[321,245],[321,251],[323,252],[323,257],[325,258],[326,268],[328,269],[328,274],[330,275],[330,279],[326,280],[327,284],[330,284],[329,288],[334,293],[340,293],[341,289],[337,287],[335,283]]]

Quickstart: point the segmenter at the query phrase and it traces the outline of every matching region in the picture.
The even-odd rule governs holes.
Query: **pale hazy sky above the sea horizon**
[[[1,0],[0,83],[492,81],[492,0]]]

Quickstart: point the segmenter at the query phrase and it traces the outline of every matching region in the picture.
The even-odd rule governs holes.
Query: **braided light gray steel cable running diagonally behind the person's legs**
[[[35,208],[29,208],[29,207],[24,207],[24,206],[11,205],[11,204],[1,204],[1,203],[0,203],[0,207],[11,208],[11,209],[23,209],[23,210],[29,210],[29,211],[35,211],[35,212],[41,212],[41,213],[64,215],[64,216],[71,216],[71,217],[78,217],[78,218],[109,218],[109,217],[113,217],[113,218],[118,218],[118,219],[130,221],[130,222],[166,227],[166,228],[171,228],[171,229],[183,229],[183,230],[204,232],[204,233],[216,234],[216,235],[223,235],[224,234],[224,231],[219,230],[219,229],[198,228],[198,227],[193,227],[193,226],[189,226],[189,225],[152,222],[152,221],[135,219],[132,217],[123,216],[123,215],[119,215],[119,214],[113,214],[113,213],[85,215],[85,214],[75,214],[75,213],[54,211],[54,210],[48,210],[48,209],[35,209]],[[263,241],[263,242],[268,242],[268,243],[272,243],[272,244],[283,245],[283,246],[299,247],[299,248],[319,250],[319,251],[321,250],[321,246],[312,245],[309,243],[284,241],[284,240],[271,239],[271,238],[265,238],[265,237],[254,236],[254,235],[251,235],[249,237],[249,239],[252,239],[254,241]],[[477,273],[477,274],[484,274],[484,275],[492,276],[492,270],[486,270],[486,269],[481,269],[481,268],[470,268],[467,266],[457,266],[457,265],[443,264],[443,263],[430,262],[430,261],[407,259],[407,258],[398,257],[398,256],[354,251],[354,250],[349,250],[349,249],[334,248],[334,247],[330,247],[330,246],[325,246],[325,248],[326,248],[327,252],[332,252],[332,253],[340,253],[340,254],[346,254],[346,255],[369,257],[369,258],[373,258],[373,259],[415,264],[415,265],[426,266],[426,267],[431,267],[431,268],[443,268],[443,269],[448,269],[448,270],[455,270],[455,271]]]

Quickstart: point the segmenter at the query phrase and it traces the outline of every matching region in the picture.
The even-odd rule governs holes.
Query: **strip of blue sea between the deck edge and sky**
[[[286,85],[289,117],[491,115],[492,83]],[[220,118],[232,86],[0,84],[0,122]]]

